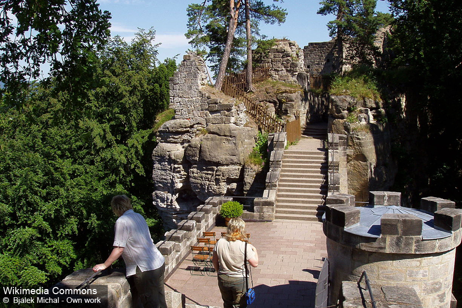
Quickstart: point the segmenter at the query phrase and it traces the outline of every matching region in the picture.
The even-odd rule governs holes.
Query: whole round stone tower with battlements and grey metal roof
[[[413,287],[425,308],[449,308],[455,247],[462,210],[449,200],[422,198],[419,209],[400,206],[401,194],[371,191],[369,205],[355,197],[329,196],[323,225],[330,262],[329,302],[342,281],[366,271],[372,284]]]

